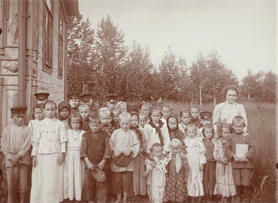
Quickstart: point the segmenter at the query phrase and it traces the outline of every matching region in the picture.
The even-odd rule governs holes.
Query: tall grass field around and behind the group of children
[[[252,174],[252,193],[250,203],[272,203],[276,197],[276,106],[274,104],[261,104],[239,102],[245,106],[248,119],[248,132],[254,136],[257,153],[253,159],[254,169]],[[129,104],[129,103],[128,103]],[[189,105],[168,102],[173,108],[173,113],[178,115],[179,110],[188,108]],[[136,105],[137,106],[137,105]],[[213,104],[205,104],[201,111],[213,111]],[[135,110],[135,105],[128,105],[128,110]],[[6,193],[0,189],[0,196]],[[111,198],[108,202],[111,202]],[[2,196],[0,201],[5,201]],[[146,198],[131,198],[131,202],[143,202]],[[236,200],[233,201],[237,203]]]

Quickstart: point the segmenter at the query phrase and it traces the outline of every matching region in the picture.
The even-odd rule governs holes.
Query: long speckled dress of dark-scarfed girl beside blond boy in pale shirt
[[[143,173],[145,171],[144,152],[147,150],[148,144],[145,139],[145,135],[143,131],[137,129],[137,131],[141,132],[141,136],[135,129],[134,130],[132,129],[132,131],[136,133],[136,137],[140,145],[139,149],[140,148],[144,149],[143,152],[138,153],[138,155],[133,159],[133,192],[134,192],[134,196],[139,194],[146,195],[146,181],[145,178],[143,177]]]

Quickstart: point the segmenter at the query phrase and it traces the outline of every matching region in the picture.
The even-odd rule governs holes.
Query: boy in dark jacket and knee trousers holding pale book
[[[245,120],[242,116],[235,116],[233,119],[232,127],[234,133],[228,135],[225,144],[225,154],[232,160],[232,171],[234,176],[234,183],[236,184],[237,194],[241,194],[243,188],[244,196],[249,196],[251,185],[251,168],[253,167],[252,158],[256,153],[255,142],[250,135],[243,134],[243,128],[245,127]],[[237,144],[245,144],[248,149],[247,152],[238,157],[236,148]]]

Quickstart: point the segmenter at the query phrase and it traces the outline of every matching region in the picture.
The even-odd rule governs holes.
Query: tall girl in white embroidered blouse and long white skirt
[[[66,150],[66,129],[56,119],[56,103],[44,103],[44,120],[39,122],[32,149],[32,188],[30,202],[63,201],[63,162]]]

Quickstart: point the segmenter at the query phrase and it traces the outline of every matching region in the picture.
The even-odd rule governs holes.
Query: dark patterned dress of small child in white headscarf
[[[188,164],[186,158],[183,158],[182,166],[177,173],[175,159],[176,155],[172,154],[172,159],[166,167],[166,198],[172,202],[184,202],[187,199]]]

